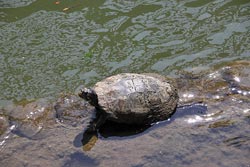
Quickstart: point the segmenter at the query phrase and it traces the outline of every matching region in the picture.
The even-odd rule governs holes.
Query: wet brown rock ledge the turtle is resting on
[[[55,103],[35,101],[5,108],[1,112],[8,117],[0,121],[9,124],[3,123],[7,129],[1,127],[1,164],[247,166],[249,74],[248,61],[183,74],[177,79],[180,104],[169,120],[151,127],[107,122],[97,134],[89,136],[87,146],[83,145],[83,131],[93,113],[75,95],[62,96]]]

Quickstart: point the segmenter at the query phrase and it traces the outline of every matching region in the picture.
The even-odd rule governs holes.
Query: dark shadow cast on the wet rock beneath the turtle
[[[159,127],[166,126],[167,124],[173,122],[175,119],[179,117],[184,117],[187,115],[204,115],[207,112],[207,106],[203,103],[195,103],[190,105],[185,105],[178,107],[174,115],[172,115],[171,119],[162,121],[163,124],[159,124],[154,126],[154,123],[151,125],[135,125],[135,124],[124,124],[124,123],[116,123],[113,121],[106,121],[98,131],[91,131],[88,128],[75,137],[74,146],[75,147],[83,147],[84,151],[90,151],[98,138],[109,138],[109,137],[128,137],[128,136],[136,136],[138,134],[143,134],[148,129],[154,129],[151,127]]]

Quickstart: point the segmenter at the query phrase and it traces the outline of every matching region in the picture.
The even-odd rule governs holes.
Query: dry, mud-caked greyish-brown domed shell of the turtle
[[[108,119],[127,124],[165,120],[179,99],[174,81],[158,74],[122,73],[97,82],[93,89]]]

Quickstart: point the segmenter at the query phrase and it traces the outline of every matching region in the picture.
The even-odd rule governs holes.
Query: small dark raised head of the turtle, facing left
[[[91,88],[81,89],[78,95],[84,100],[88,101],[89,104],[98,107],[98,97],[93,89]]]

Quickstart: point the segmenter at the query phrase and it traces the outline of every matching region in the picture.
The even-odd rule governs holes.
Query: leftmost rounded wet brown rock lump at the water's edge
[[[17,106],[8,106],[1,114],[8,116],[13,134],[29,139],[38,137],[40,131],[54,120],[52,107],[45,99],[21,101]]]

